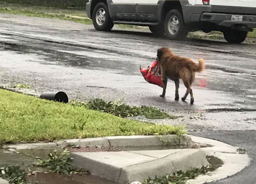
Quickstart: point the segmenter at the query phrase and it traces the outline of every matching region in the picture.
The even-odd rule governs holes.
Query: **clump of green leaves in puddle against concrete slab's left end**
[[[48,171],[59,174],[90,174],[88,170],[74,167],[71,163],[74,158],[67,150],[60,154],[57,154],[55,150],[53,153],[49,153],[48,157],[49,159],[47,160],[39,160],[36,166],[47,168]]]

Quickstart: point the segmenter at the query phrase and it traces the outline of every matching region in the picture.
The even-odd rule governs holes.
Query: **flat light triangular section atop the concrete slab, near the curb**
[[[156,159],[161,159],[164,157],[167,157],[171,154],[175,154],[178,151],[181,151],[181,149],[169,149],[169,150],[148,150],[148,151],[129,151],[131,153],[136,153],[140,155],[146,155],[150,157],[154,157]]]

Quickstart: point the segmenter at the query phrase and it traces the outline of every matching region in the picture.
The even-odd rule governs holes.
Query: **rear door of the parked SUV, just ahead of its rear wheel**
[[[137,0],[137,19],[141,22],[157,22],[158,0]]]

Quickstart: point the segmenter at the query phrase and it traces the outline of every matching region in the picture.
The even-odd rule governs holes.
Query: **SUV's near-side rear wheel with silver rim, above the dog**
[[[178,10],[170,10],[165,17],[165,35],[171,40],[184,40],[188,29]]]

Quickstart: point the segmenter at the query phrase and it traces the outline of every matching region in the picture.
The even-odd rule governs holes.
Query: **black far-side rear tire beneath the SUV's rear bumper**
[[[243,41],[245,41],[246,36],[247,36],[247,31],[240,31],[240,30],[224,30],[224,38],[226,41],[228,41],[231,44],[240,44]]]

